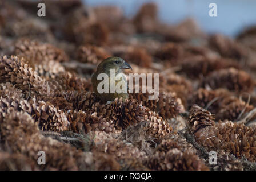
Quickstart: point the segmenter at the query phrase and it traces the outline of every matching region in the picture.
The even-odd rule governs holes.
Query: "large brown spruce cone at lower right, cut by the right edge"
[[[219,121],[214,126],[205,127],[194,133],[195,139],[208,150],[226,150],[237,158],[245,157],[255,162],[256,128],[231,121]]]

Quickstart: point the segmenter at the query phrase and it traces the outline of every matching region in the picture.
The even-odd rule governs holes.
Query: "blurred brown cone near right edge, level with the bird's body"
[[[211,89],[226,88],[239,93],[250,93],[253,90],[254,81],[245,71],[229,68],[212,72],[201,82],[202,87],[206,85],[209,85]]]

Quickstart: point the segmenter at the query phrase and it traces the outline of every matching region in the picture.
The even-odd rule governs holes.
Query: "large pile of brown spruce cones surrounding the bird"
[[[37,1],[0,2],[1,170],[256,169],[256,27],[231,39],[162,23],[154,3],[127,18],[43,2],[46,17]],[[91,74],[109,56],[159,73],[158,99],[98,100]]]

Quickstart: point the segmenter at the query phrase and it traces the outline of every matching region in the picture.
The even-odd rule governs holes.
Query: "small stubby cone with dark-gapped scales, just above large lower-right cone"
[[[214,126],[214,117],[209,111],[193,105],[189,111],[188,124],[193,133],[196,133],[204,127]]]

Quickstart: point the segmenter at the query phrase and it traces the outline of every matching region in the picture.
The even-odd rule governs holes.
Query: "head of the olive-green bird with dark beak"
[[[130,64],[126,63],[120,57],[108,57],[99,63],[97,72],[110,73],[110,69],[115,69],[115,74],[120,73],[122,69],[132,69]]]

